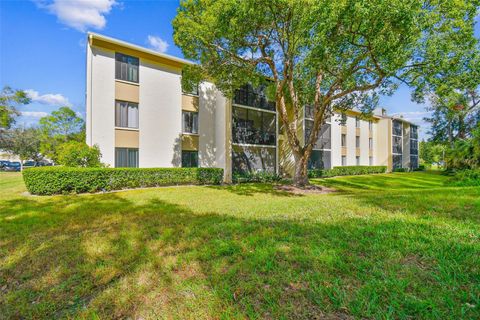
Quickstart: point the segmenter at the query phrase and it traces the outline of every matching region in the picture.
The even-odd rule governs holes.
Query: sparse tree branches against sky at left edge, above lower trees
[[[4,87],[0,93],[0,132],[10,129],[15,123],[15,118],[20,114],[16,107],[30,102],[25,91]]]

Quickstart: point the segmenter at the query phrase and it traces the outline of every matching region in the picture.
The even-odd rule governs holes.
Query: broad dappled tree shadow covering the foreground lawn
[[[243,219],[116,194],[0,215],[6,318],[478,316],[478,244],[402,219]],[[476,270],[476,271],[475,271]],[[459,289],[461,288],[461,289]]]

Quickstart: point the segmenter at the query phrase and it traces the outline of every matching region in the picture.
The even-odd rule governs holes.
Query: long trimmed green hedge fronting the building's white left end
[[[182,184],[220,184],[223,169],[43,167],[23,171],[23,180],[31,194],[50,195]]]

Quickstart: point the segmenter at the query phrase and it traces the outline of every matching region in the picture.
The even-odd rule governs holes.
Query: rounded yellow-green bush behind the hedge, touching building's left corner
[[[58,147],[58,164],[66,167],[101,167],[102,154],[97,145],[88,146],[85,142],[70,141]]]

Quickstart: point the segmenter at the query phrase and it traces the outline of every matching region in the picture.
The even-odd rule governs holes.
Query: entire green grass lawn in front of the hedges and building
[[[0,174],[0,318],[478,319],[480,188],[432,173],[33,197]]]

